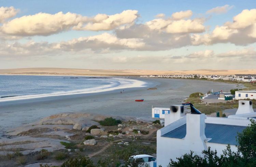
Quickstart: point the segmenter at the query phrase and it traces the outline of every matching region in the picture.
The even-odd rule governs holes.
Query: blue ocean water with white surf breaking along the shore
[[[143,87],[124,77],[0,75],[0,102]]]

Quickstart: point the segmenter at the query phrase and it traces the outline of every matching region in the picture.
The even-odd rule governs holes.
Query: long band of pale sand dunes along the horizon
[[[94,69],[67,69],[67,68],[20,68],[0,69],[0,74],[28,74],[28,75],[91,75],[91,76],[139,76],[139,75],[166,75],[166,74],[204,74],[204,75],[232,75],[256,74],[256,69],[248,70],[190,70],[190,71],[157,71],[157,70],[94,70]]]

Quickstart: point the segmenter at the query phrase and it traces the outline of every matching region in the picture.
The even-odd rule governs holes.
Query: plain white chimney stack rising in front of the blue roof
[[[201,153],[202,150],[206,150],[207,146],[205,140],[207,140],[205,130],[205,114],[187,114],[186,115],[186,136],[185,143],[196,153]]]

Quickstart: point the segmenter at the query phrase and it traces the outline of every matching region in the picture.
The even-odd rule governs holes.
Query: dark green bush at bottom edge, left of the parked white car
[[[88,156],[86,157],[78,157],[78,158],[70,158],[66,162],[64,162],[61,167],[95,167],[93,165],[93,161],[90,160]]]

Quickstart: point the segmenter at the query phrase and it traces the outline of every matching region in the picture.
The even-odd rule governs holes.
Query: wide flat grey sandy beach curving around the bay
[[[211,89],[229,91],[237,87],[234,84],[204,80],[140,77],[134,77],[133,79],[148,82],[148,86],[124,89],[122,94],[120,94],[120,90],[114,90],[93,94],[1,102],[0,130],[3,132],[6,129],[62,112],[87,112],[151,119],[152,105],[169,107],[172,104],[181,104],[186,97],[194,92],[206,93]],[[147,90],[153,87],[157,89]],[[143,102],[135,102],[136,98],[144,98],[145,100]]]

